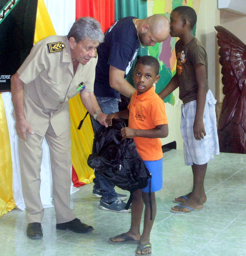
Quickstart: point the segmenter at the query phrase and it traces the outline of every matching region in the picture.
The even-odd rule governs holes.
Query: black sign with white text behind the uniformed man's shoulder
[[[30,53],[38,0],[0,0],[0,92]]]

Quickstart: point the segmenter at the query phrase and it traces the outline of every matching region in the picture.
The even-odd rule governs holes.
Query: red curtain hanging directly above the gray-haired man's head
[[[115,22],[115,0],[76,0],[76,20],[85,16],[98,20],[104,33]]]

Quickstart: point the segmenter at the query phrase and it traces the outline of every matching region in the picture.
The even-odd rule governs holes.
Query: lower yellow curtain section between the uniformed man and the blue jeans
[[[80,100],[79,94],[69,100],[69,109],[73,168],[78,175],[78,180],[88,184],[95,178],[93,170],[87,165],[87,158],[91,154],[94,137],[90,116],[86,116],[81,129],[78,130],[78,125],[87,112]]]

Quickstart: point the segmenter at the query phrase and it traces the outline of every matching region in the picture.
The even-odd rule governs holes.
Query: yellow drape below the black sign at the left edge
[[[7,119],[0,93],[0,217],[15,206],[12,192],[12,159]]]

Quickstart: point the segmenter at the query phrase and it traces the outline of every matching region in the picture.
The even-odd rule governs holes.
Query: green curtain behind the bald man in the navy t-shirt
[[[134,16],[138,19],[147,18],[147,0],[115,0],[115,21],[127,16]],[[140,47],[138,50],[138,56],[148,55],[148,47]],[[133,62],[131,70],[126,77],[126,80],[133,84],[133,69],[136,63]]]

